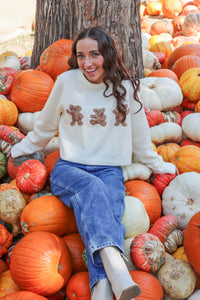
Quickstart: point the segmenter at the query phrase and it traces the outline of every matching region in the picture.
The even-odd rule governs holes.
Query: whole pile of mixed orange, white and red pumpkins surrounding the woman
[[[198,3],[199,2],[199,3]],[[142,293],[135,299],[200,299],[200,1],[141,2],[140,97],[152,145],[178,173],[153,174],[137,157],[122,167],[124,251]],[[199,19],[200,22],[200,19]],[[68,70],[61,39],[30,68],[0,55],[0,299],[91,299],[85,245],[74,212],[51,193],[59,132],[42,151],[7,158],[33,129],[54,82]]]

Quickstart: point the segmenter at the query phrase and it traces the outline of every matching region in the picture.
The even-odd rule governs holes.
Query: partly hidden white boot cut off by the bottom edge
[[[113,300],[113,291],[108,279],[101,279],[95,284],[91,300]]]

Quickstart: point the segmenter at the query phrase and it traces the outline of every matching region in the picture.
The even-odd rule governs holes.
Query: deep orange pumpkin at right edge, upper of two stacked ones
[[[200,57],[200,44],[185,44],[175,48],[168,59],[169,69],[172,69],[174,63],[185,55],[196,55]]]

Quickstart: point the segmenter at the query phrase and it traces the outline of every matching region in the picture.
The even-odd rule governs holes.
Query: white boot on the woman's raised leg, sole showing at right
[[[117,300],[130,300],[141,294],[116,247],[103,248],[100,257]]]

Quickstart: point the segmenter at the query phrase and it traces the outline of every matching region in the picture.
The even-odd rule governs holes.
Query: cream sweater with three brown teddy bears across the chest
[[[105,84],[90,83],[79,69],[58,76],[52,92],[34,125],[34,130],[13,146],[13,158],[43,149],[59,131],[60,156],[87,165],[125,166],[132,153],[155,173],[174,173],[152,147],[144,110],[133,100],[133,87],[127,89],[127,116],[122,122],[113,96],[104,97]],[[111,88],[107,94],[111,93]]]

